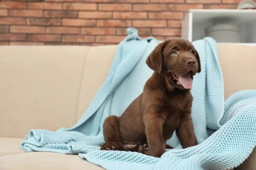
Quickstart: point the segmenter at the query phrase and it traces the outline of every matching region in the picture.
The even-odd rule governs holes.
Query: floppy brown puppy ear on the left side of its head
[[[146,63],[149,68],[151,68],[154,71],[157,71],[159,74],[162,73],[162,65],[163,65],[163,48],[166,46],[166,44],[169,41],[166,40],[156,46],[156,48],[151,52],[151,54],[148,56]]]

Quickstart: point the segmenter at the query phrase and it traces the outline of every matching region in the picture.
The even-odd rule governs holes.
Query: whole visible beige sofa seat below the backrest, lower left
[[[29,152],[20,149],[21,138],[0,138],[0,170],[102,170],[78,155]]]

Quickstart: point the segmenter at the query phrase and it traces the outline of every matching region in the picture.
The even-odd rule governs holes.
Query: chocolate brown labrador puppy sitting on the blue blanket
[[[194,46],[182,38],[157,45],[146,63],[154,70],[143,93],[122,116],[108,116],[103,124],[105,144],[101,150],[126,150],[160,157],[166,140],[176,130],[183,148],[197,144],[191,107],[193,76],[201,71]]]

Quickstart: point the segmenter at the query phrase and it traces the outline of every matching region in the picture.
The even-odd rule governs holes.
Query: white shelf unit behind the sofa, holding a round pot
[[[192,9],[183,20],[181,37],[191,42],[203,39],[205,28],[215,23],[239,26],[241,43],[256,44],[255,9]]]

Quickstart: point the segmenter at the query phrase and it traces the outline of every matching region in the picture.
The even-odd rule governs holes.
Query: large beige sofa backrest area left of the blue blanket
[[[0,137],[72,127],[105,81],[116,47],[0,46]]]

